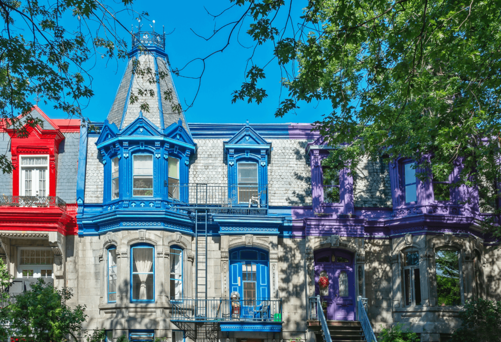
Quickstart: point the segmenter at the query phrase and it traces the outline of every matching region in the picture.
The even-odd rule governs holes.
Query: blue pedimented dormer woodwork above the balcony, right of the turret
[[[268,203],[268,155],[272,144],[266,141],[254,128],[245,123],[235,135],[224,141],[224,152],[228,159],[228,198],[236,204],[237,196],[231,191],[229,185],[238,183],[238,163],[255,162],[258,164],[258,191],[262,192],[262,202]]]

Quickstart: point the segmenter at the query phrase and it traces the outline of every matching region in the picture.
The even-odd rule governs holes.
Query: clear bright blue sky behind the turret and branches
[[[111,1],[108,1],[111,4]],[[149,13],[149,20],[155,20],[155,30],[162,31],[162,25],[165,32],[172,32],[166,37],[166,51],[172,67],[182,67],[188,61],[196,57],[204,57],[208,53],[224,46],[227,40],[229,29],[225,29],[216,36],[215,39],[205,41],[197,37],[190,29],[196,33],[209,36],[214,28],[214,23],[218,26],[233,21],[233,19],[242,13],[242,8],[234,7],[225,12],[225,15],[214,21],[207,14],[204,5],[212,13],[221,12],[230,4],[227,0],[219,1],[135,1],[133,9]],[[305,3],[295,4],[293,9],[296,14],[301,13],[301,8]],[[119,9],[113,4],[115,9]],[[285,10],[284,13],[285,14]],[[296,16],[297,17],[297,16]],[[134,25],[137,31],[138,22],[133,14],[122,12],[119,14],[120,21],[130,29]],[[279,17],[280,18],[280,17]],[[68,21],[67,29],[76,29],[75,19],[66,19]],[[248,22],[247,22],[248,23]],[[142,30],[151,30],[149,21],[143,20]],[[72,27],[75,26],[75,27]],[[249,119],[250,123],[283,123],[283,122],[312,122],[322,118],[322,114],[329,113],[332,109],[330,103],[300,103],[300,109],[297,113],[290,113],[283,118],[276,118],[274,112],[279,104],[280,96],[280,68],[276,60],[272,61],[265,69],[267,78],[258,85],[268,90],[268,98],[261,104],[238,101],[231,103],[231,92],[240,87],[244,80],[245,64],[247,58],[252,54],[253,48],[243,46],[254,46],[254,41],[246,34],[246,26],[243,25],[238,41],[236,36],[230,41],[230,45],[222,52],[216,53],[206,60],[205,73],[201,80],[200,90],[193,103],[193,106],[186,110],[186,119],[188,122],[244,122]],[[125,30],[118,30],[121,36],[127,36]],[[127,36],[130,46],[130,37]],[[241,43],[241,45],[239,44]],[[272,45],[261,46],[254,58],[255,63],[259,65],[266,64],[271,59]],[[90,100],[83,114],[91,120],[102,121],[106,118],[111,107],[115,92],[120,83],[126,61],[107,60],[100,57],[91,60],[90,63],[95,66],[90,70],[93,77],[92,89],[94,97]],[[201,70],[201,63],[195,62],[188,67],[184,74],[186,76],[197,76]],[[195,96],[198,87],[198,81],[189,78],[173,76],[174,84],[183,108],[186,109],[185,101],[190,103]],[[287,93],[282,94],[284,98]],[[50,104],[40,102],[42,109],[53,118],[66,118],[63,112],[58,112]]]

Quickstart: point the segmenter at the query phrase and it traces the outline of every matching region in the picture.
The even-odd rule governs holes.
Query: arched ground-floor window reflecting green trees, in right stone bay
[[[459,251],[446,247],[435,250],[435,270],[438,305],[461,305]]]

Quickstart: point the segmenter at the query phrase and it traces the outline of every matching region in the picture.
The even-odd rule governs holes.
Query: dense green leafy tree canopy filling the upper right
[[[402,155],[438,180],[460,162],[458,184],[479,185],[486,206],[497,200],[500,0],[309,0],[300,15],[292,1],[230,2],[256,47],[273,43],[287,92],[275,115],[331,103],[315,122],[339,146],[327,162],[353,170],[362,157]],[[233,101],[268,96],[266,65],[252,61]]]

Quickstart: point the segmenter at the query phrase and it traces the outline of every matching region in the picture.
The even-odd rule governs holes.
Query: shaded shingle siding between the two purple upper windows
[[[363,159],[353,175],[353,196],[355,206],[391,207],[388,164]]]

